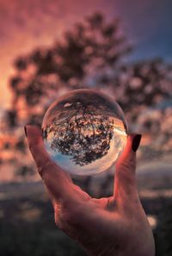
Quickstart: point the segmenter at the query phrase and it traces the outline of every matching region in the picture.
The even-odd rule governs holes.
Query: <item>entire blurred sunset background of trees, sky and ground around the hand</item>
[[[143,134],[137,182],[156,240],[172,255],[172,29],[170,0],[0,0],[0,252],[81,256],[55,227],[23,126],[41,125],[52,101],[91,88],[113,97]],[[74,178],[112,194],[114,168]]]

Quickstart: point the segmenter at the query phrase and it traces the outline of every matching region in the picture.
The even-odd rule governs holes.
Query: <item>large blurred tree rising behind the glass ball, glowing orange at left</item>
[[[96,13],[66,32],[63,41],[16,59],[9,84],[13,92],[9,126],[40,123],[39,116],[60,90],[107,86],[115,66],[130,50],[119,21],[106,22]]]

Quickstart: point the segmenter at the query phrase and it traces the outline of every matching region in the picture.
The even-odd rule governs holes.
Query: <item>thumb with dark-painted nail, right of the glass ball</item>
[[[124,200],[137,192],[136,188],[136,151],[141,140],[141,134],[128,136],[126,147],[116,164],[114,179],[114,197]]]

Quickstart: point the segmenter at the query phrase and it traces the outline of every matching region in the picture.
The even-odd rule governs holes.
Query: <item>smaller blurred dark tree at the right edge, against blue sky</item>
[[[125,93],[121,98],[124,108],[132,109],[140,104],[151,106],[170,96],[172,66],[162,59],[138,62],[125,72]]]

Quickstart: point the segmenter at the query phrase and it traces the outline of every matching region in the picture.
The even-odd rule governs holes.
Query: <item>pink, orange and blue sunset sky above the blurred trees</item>
[[[95,11],[119,16],[135,47],[128,60],[172,59],[171,0],[0,0],[0,109],[9,107],[8,81],[17,56],[51,46],[65,29]]]

